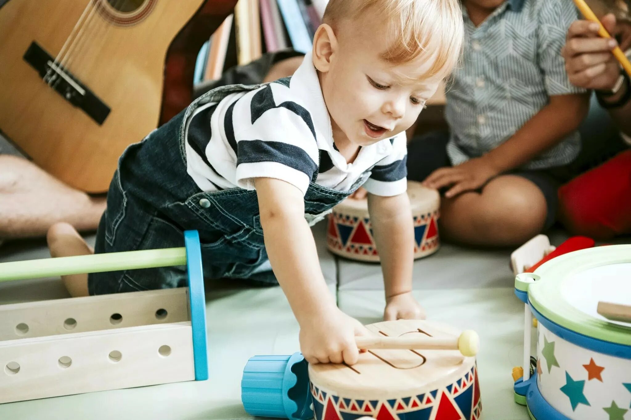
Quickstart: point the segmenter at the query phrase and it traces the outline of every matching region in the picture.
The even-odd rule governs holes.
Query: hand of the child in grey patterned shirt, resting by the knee
[[[445,197],[452,198],[465,191],[478,190],[498,174],[488,159],[477,157],[458,166],[436,169],[423,181],[423,185],[436,190],[451,186]]]

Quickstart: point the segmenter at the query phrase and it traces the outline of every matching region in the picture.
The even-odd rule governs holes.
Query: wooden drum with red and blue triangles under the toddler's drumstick
[[[458,336],[431,321],[367,326],[375,334]],[[476,420],[482,403],[475,358],[457,350],[370,350],[357,365],[309,365],[315,420]]]

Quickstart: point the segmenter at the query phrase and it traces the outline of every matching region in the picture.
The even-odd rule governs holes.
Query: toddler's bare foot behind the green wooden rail
[[[46,234],[46,241],[52,258],[94,254],[94,249],[86,244],[76,229],[65,222],[52,225]],[[71,296],[88,295],[87,274],[61,276],[61,280]]]

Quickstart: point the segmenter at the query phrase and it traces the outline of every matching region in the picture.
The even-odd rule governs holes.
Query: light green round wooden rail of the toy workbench
[[[186,248],[32,259],[0,264],[0,281],[186,265]]]

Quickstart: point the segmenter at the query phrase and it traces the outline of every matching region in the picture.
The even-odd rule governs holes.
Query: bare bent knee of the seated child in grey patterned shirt
[[[480,246],[515,246],[540,233],[548,204],[541,189],[517,175],[492,179],[483,190],[443,198],[440,235]]]

